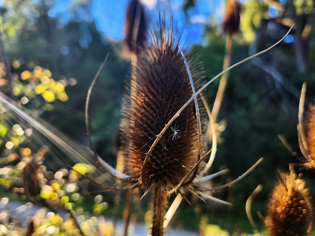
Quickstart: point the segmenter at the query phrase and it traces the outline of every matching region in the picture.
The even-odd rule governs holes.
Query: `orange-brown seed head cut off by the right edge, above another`
[[[305,112],[302,132],[305,133],[306,145],[304,145],[307,156],[304,166],[307,169],[315,168],[315,104],[311,103]]]

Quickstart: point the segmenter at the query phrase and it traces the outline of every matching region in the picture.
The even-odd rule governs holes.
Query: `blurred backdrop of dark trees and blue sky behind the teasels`
[[[1,37],[15,81],[15,92],[11,98],[19,100],[27,109],[36,110],[44,121],[86,146],[89,143],[84,127],[85,98],[99,66],[106,54],[110,53],[92,92],[89,118],[96,151],[112,166],[116,166],[121,102],[130,75],[130,61],[123,56],[122,43],[128,2],[2,0],[0,3]],[[159,13],[176,23],[183,34],[181,43],[194,50],[196,58],[203,64],[204,81],[221,72],[227,37],[223,30],[226,1],[140,2],[145,7],[149,29],[156,29]],[[307,82],[307,103],[312,101],[315,93],[315,2],[243,0],[239,3],[240,28],[232,36],[231,65],[280,40],[293,23],[295,27],[278,46],[230,71],[217,119],[222,132],[211,169],[215,172],[228,168],[230,172],[216,179],[214,185],[240,176],[260,157],[264,157],[264,161],[242,181],[214,194],[233,203],[233,206],[211,202],[204,204],[189,196],[193,207],[182,203],[171,222],[174,228],[198,232],[200,222],[203,222],[219,225],[231,234],[252,233],[245,213],[245,202],[257,185],[263,184],[262,192],[252,204],[254,220],[262,229],[263,223],[255,212],[261,211],[262,215],[266,215],[267,196],[279,177],[279,171],[288,171],[287,164],[298,163],[301,157],[296,125],[302,83]],[[44,72],[42,68],[49,72]],[[53,96],[41,93],[39,90],[42,88],[37,87],[38,93],[34,94],[36,99],[21,95],[26,88],[23,87],[25,83],[19,80],[28,78],[24,74],[23,79],[22,73],[29,71],[36,74],[39,70],[44,76],[52,76],[54,81],[59,81],[63,86],[61,92],[57,86]],[[210,84],[204,93],[210,108],[218,85],[219,79]],[[2,127],[0,134],[2,143],[10,141],[15,145],[12,140],[4,138]],[[293,154],[280,141],[279,134],[292,146]],[[20,148],[23,147],[21,144]],[[2,168],[16,161],[3,160],[0,163]],[[76,163],[73,159],[56,154],[51,159],[46,158],[43,164],[47,170],[57,171],[67,168],[67,164],[73,166]],[[313,196],[314,177],[314,171],[304,173]],[[1,197],[7,196],[8,191],[1,190]],[[101,213],[106,216],[113,214],[113,195],[102,194],[102,201],[106,201],[108,207],[104,207]],[[145,219],[148,198],[141,201],[141,207],[136,205],[132,209],[132,219],[139,222]],[[123,204],[121,200],[121,211]],[[88,207],[85,210],[89,210]]]

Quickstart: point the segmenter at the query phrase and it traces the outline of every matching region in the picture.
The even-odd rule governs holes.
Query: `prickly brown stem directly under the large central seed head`
[[[165,208],[167,203],[167,194],[159,185],[153,187],[152,196],[152,236],[162,236],[164,234]]]

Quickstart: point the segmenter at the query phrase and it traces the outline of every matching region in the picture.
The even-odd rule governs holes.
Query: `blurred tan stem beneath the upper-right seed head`
[[[224,59],[223,59],[222,70],[226,70],[231,64],[232,41],[233,41],[232,35],[228,34],[226,36],[225,54],[224,54]],[[214,122],[216,122],[218,113],[220,111],[220,107],[222,104],[222,98],[224,95],[228,75],[229,75],[229,71],[226,71],[225,73],[222,74],[221,79],[220,79],[218,92],[217,92],[217,95],[215,97],[215,102],[214,102],[213,108],[212,108],[212,118],[213,118]],[[207,133],[210,134],[210,130]]]

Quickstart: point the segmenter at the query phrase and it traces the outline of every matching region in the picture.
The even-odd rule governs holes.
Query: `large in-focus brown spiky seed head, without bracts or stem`
[[[173,25],[160,20],[158,31],[138,57],[131,75],[131,88],[124,98],[122,148],[128,150],[125,163],[128,174],[146,188],[154,184],[168,188],[177,185],[197,162],[198,137],[195,107],[190,103],[157,143],[145,169],[146,186],[141,171],[157,134],[192,96],[192,88],[178,45]],[[184,50],[186,51],[186,50]],[[200,77],[200,66],[187,55],[193,79]]]

